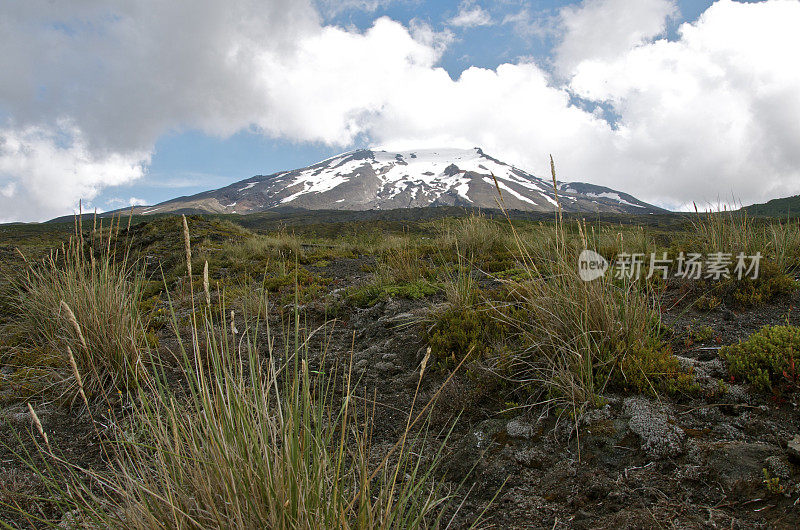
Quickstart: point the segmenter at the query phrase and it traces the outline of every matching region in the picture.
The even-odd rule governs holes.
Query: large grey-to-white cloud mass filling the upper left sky
[[[31,0],[0,15],[0,210],[24,220],[137,178],[170,131],[347,145],[452,40],[385,18],[326,26],[307,0]],[[69,193],[45,197],[46,177]]]

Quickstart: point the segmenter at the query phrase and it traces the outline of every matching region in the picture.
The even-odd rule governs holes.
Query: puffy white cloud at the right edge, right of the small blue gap
[[[675,205],[800,192],[797,27],[800,2],[721,0],[676,42],[579,64],[571,87],[620,115],[592,176]]]

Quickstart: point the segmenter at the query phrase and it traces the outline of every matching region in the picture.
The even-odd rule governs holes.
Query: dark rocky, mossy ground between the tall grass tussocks
[[[502,223],[497,228],[485,219],[444,222],[455,224],[343,224],[333,238],[314,235],[320,233],[315,227],[289,235],[247,232],[202,218],[191,218],[189,226],[195,253],[214,271],[212,283],[226,285],[237,315],[247,312],[249,301],[258,305],[269,291],[266,304],[273,329],[285,327],[299,307],[304,329],[322,330],[311,334],[309,362],[320,370],[331,363],[352,370],[358,381],[356,395],[374,408],[374,461],[403,436],[409,411],[431,403],[425,429],[436,443],[425,448],[433,453],[442,444],[435,480],[450,495],[442,527],[469,527],[476,521],[496,528],[800,526],[797,374],[784,370],[771,391],[758,390],[747,379],[732,376],[720,355],[723,347],[746,340],[764,326],[800,325],[794,309],[800,302],[796,288],[770,292],[757,304],[742,304],[724,293],[714,298],[703,290],[707,286],[700,291],[685,282],[660,286],[648,296],[658,306],[664,347],[680,372],[691,375],[691,384],[669,391],[609,384],[596,389],[587,404],[565,399],[552,388],[531,390],[550,387],[536,381],[522,385],[515,379],[520,372],[498,368],[491,352],[522,351],[514,349],[520,347],[516,338],[503,342],[492,335],[497,340],[481,343],[483,353],[464,363],[459,361],[468,352],[452,345],[466,344],[472,352],[480,341],[460,342],[448,335],[449,349],[437,346],[443,343],[436,331],[441,330],[442,315],[462,307],[459,297],[464,293],[454,285],[469,282],[469,290],[476,293],[469,307],[485,310],[479,314],[489,320],[496,311],[493,300],[503,296],[498,293],[510,289],[509,281],[523,281],[514,278],[521,269],[524,272],[525,263],[511,239],[503,239],[500,246],[491,243],[510,237]],[[487,233],[476,235],[486,226],[491,227]],[[544,230],[532,223],[519,228],[523,234],[540,229]],[[624,233],[631,241],[640,229],[608,230]],[[686,234],[694,237],[691,230],[653,237],[677,244]],[[148,340],[168,359],[168,352],[176,351],[176,339],[169,326],[158,324],[166,303],[163,287],[173,291],[179,320],[186,320],[191,305],[187,284],[180,278],[180,227],[174,218],[166,218],[135,225],[129,235],[153,278],[149,296],[141,302],[149,319]],[[54,230],[28,242],[35,239],[41,252],[47,238],[61,237]],[[443,256],[450,237],[455,237],[459,252]],[[387,238],[393,239],[391,244],[386,244]],[[433,248],[409,250],[409,244],[425,241],[432,241]],[[20,241],[12,243],[20,246]],[[488,246],[467,259],[467,249],[481,245]],[[29,247],[36,252],[35,245]],[[246,250],[234,252],[234,247]],[[270,269],[276,259],[288,263],[282,272]],[[18,254],[4,250],[5,274],[11,275],[21,263]],[[404,272],[405,267],[412,269]],[[202,265],[195,269],[202,270]],[[261,294],[242,289],[241,277],[257,276],[259,270]],[[163,275],[162,287],[156,271]],[[794,273],[787,278],[797,283]],[[199,293],[198,287],[198,304]],[[13,306],[4,305],[3,310],[4,322],[11,325]],[[50,443],[58,445],[65,459],[101,470],[110,463],[97,436],[113,431],[114,418],[124,414],[129,398],[119,393],[87,409],[73,399],[74,388],[67,397],[48,388],[44,366],[22,366],[18,354],[24,348],[19,339],[6,337],[0,386],[0,512],[12,525],[37,527],[50,520],[69,527],[74,516],[36,499],[48,493],[41,478],[22,463],[20,451],[25,448],[32,451],[34,462],[43,461],[35,452],[39,434],[27,404],[35,405]],[[658,385],[658,376],[652,371],[649,381]]]

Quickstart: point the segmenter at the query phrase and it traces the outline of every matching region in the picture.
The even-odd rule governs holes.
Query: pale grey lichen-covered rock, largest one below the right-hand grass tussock
[[[630,416],[628,428],[642,440],[642,450],[654,459],[678,456],[683,452],[686,434],[676,426],[657,403],[643,397],[629,397],[623,412]]]

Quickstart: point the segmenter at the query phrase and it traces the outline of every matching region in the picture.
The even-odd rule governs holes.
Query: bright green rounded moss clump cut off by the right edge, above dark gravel
[[[777,391],[783,380],[794,383],[800,361],[800,328],[765,326],[738,344],[725,346],[720,356],[731,378],[761,391]]]

